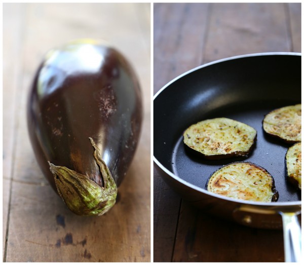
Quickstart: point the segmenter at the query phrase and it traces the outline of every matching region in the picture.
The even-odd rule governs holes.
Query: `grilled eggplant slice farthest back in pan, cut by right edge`
[[[269,112],[263,120],[263,129],[269,135],[287,143],[301,141],[301,104]]]

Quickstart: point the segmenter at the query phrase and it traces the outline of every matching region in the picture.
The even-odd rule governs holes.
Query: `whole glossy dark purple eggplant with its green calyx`
[[[104,42],[72,41],[37,69],[27,102],[30,142],[75,214],[102,215],[115,205],[140,135],[141,97],[131,64]]]

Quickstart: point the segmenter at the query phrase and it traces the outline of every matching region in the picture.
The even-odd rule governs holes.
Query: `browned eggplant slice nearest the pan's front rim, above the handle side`
[[[251,162],[235,162],[215,171],[207,190],[233,199],[272,202],[279,198],[272,175]]]

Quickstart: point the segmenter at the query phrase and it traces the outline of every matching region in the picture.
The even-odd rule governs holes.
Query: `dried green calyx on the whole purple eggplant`
[[[104,161],[100,150],[92,138],[95,148],[94,159],[99,166],[104,186],[101,187],[86,175],[77,173],[49,162],[50,170],[55,177],[58,194],[67,207],[78,215],[102,215],[115,203],[117,185]]]

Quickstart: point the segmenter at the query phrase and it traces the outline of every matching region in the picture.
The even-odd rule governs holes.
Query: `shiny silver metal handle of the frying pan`
[[[299,212],[279,212],[283,221],[285,262],[301,261],[301,226],[297,215]]]

